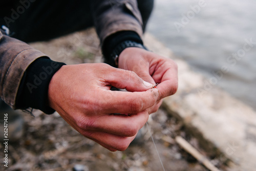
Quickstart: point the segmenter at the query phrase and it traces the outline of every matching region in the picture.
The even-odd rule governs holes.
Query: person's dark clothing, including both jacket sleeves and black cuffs
[[[65,64],[50,60],[25,42],[48,40],[95,26],[102,52],[108,59],[115,46],[124,40],[142,43],[141,36],[152,8],[153,0],[0,3],[1,98],[14,109],[30,107],[53,113],[47,106],[48,85],[54,73]],[[37,82],[35,76],[39,78]]]

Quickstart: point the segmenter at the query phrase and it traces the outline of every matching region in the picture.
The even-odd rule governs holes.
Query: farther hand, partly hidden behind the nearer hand
[[[126,48],[119,55],[118,67],[135,72],[143,80],[152,84],[159,83],[158,102],[149,113],[156,112],[162,98],[173,95],[178,89],[178,67],[172,60],[148,52],[141,48]]]

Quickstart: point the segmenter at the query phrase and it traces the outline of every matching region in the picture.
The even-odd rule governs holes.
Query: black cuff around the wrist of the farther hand
[[[110,55],[113,53],[114,49],[126,40],[134,41],[143,45],[143,41],[141,40],[140,36],[134,31],[120,31],[112,34],[104,40],[101,48],[102,54],[107,63],[113,60],[111,59]]]

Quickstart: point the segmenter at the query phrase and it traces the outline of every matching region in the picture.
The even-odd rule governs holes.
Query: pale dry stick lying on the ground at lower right
[[[190,145],[185,139],[181,136],[177,136],[175,141],[185,149],[189,154],[194,156],[200,163],[202,163],[205,167],[207,167],[211,171],[220,171],[217,167],[215,167],[209,160],[207,160],[201,153],[197,151],[192,145]]]

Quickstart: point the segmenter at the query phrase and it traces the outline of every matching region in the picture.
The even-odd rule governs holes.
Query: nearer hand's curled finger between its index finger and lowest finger
[[[124,137],[132,137],[144,126],[148,120],[148,113],[146,111],[130,116],[119,115],[105,115],[101,116],[93,122],[90,127],[81,127],[95,132],[105,132]],[[84,123],[84,125],[87,125]]]

